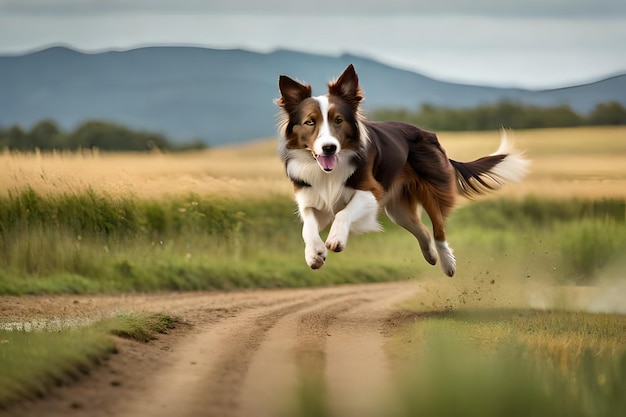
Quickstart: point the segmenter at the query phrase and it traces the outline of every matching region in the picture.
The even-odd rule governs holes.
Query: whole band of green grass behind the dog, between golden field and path
[[[593,283],[621,262],[625,207],[619,199],[532,197],[467,204],[448,222],[458,275],[484,273],[468,268],[480,264],[512,278]],[[381,221],[384,233],[351,237],[343,253],[330,253],[324,268],[311,271],[287,197],[144,200],[27,188],[0,197],[0,294],[276,288],[441,275],[423,260],[413,236]]]

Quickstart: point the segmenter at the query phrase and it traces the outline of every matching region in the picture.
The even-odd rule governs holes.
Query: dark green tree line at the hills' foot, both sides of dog
[[[430,130],[497,130],[550,127],[626,125],[626,108],[617,101],[598,104],[587,114],[568,105],[541,107],[501,101],[473,108],[438,107],[424,104],[418,110],[382,108],[372,112],[374,120],[397,120]],[[124,125],[89,120],[66,132],[51,119],[35,123],[30,129],[20,125],[0,126],[0,149],[20,151],[74,150],[98,148],[104,151],[149,151],[202,149],[200,140],[173,144],[164,135],[137,131]]]

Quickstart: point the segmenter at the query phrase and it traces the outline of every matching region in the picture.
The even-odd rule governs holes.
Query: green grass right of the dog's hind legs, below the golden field
[[[484,200],[455,212],[449,230],[462,249],[461,265],[482,262],[510,277],[588,285],[622,267],[626,200]]]

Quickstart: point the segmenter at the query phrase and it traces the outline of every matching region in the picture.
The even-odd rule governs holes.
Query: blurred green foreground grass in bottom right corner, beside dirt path
[[[417,311],[392,342],[410,346],[393,415],[621,415],[625,330],[620,315]]]

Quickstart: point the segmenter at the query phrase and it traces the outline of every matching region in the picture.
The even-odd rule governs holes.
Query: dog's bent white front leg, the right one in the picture
[[[335,215],[326,239],[326,247],[341,252],[348,244],[350,232],[364,233],[380,230],[376,220],[378,202],[370,191],[357,190],[348,205]]]

